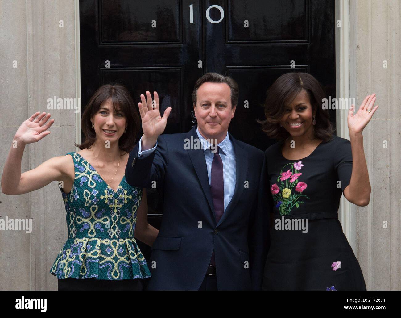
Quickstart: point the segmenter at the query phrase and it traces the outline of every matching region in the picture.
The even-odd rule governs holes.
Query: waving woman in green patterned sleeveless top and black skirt
[[[125,167],[139,116],[128,90],[103,85],[82,116],[81,151],[51,158],[20,173],[26,144],[48,135],[54,119],[36,112],[18,128],[2,175],[4,194],[17,195],[58,181],[68,239],[51,273],[59,290],[140,290],[150,277],[135,238],[152,246],[158,230],[147,222],[146,189],[130,186]],[[141,204],[142,202],[142,204]]]

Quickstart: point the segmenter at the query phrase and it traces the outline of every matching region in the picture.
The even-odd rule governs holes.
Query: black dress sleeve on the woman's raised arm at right
[[[334,169],[336,169],[338,181],[341,182],[341,190],[350,184],[352,173],[351,142],[348,139],[337,137],[334,151]]]

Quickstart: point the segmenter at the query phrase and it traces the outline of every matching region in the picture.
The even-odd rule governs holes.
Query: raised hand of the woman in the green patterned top
[[[14,139],[24,144],[36,143],[46,135],[50,134],[47,130],[53,124],[54,119],[49,120],[50,114],[46,112],[34,113],[30,118],[25,120],[15,133]]]

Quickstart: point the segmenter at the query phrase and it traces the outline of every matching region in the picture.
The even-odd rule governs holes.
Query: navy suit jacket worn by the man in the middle
[[[213,248],[218,289],[261,289],[269,248],[268,189],[263,151],[229,138],[235,150],[236,186],[223,216],[216,222],[203,149],[184,149],[188,133],[160,135],[156,151],[138,159],[130,153],[126,180],[135,187],[162,186],[160,232],[149,261],[147,289],[198,290]],[[248,181],[248,182],[245,182]]]

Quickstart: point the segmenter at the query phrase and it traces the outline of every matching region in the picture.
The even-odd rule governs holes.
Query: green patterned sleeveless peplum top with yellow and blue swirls
[[[150,277],[134,238],[142,189],[130,186],[125,175],[114,192],[81,155],[71,155],[75,179],[63,194],[68,239],[50,271],[59,279],[136,279]]]

